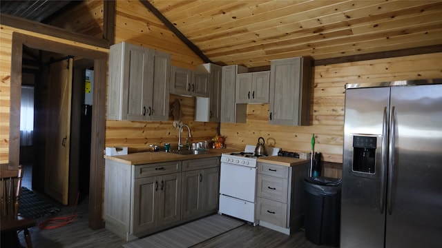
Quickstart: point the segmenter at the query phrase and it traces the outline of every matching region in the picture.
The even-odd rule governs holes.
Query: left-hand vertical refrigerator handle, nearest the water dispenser
[[[388,156],[388,120],[387,120],[387,107],[384,107],[383,123],[382,123],[382,147],[381,147],[381,197],[379,198],[379,210],[381,214],[384,212],[384,199],[385,199],[385,169],[387,169],[387,156]]]

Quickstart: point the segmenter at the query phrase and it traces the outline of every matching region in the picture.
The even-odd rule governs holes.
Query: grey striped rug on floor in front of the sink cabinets
[[[244,223],[240,220],[220,214],[213,214],[191,223],[129,242],[123,245],[123,247],[191,247],[192,245],[196,245],[242,225],[244,225]]]

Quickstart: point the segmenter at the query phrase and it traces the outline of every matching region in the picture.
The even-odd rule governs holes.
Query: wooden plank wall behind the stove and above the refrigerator
[[[267,144],[290,152],[310,151],[314,134],[315,150],[323,153],[323,161],[342,163],[345,84],[441,78],[440,61],[442,53],[316,66],[312,72],[311,125],[269,125],[268,104],[248,105],[247,123],[221,123],[221,134],[227,136],[228,147],[256,144],[262,136]],[[340,177],[339,166],[331,165],[326,174]]]

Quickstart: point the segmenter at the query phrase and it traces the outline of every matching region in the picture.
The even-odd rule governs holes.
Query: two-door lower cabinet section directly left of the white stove
[[[218,211],[220,159],[183,161],[182,220],[200,218]]]

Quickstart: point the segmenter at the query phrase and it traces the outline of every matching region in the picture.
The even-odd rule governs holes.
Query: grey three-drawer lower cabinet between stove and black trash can
[[[288,167],[258,163],[256,218],[259,225],[284,234],[300,229],[304,216],[304,187],[309,163]]]

